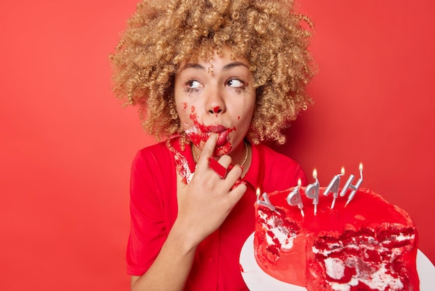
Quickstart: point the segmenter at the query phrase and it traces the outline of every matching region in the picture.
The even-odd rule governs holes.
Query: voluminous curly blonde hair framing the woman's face
[[[284,129],[312,102],[306,94],[314,74],[311,31],[304,24],[312,28],[291,0],[144,0],[110,55],[113,91],[138,104],[142,126],[157,140],[184,136],[174,104],[177,69],[227,46],[247,58],[254,77],[256,109],[247,138],[282,144]]]

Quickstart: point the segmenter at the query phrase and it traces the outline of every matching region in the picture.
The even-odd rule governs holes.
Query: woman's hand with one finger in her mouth
[[[174,227],[185,232],[186,243],[191,247],[220,227],[247,189],[241,183],[231,190],[242,174],[240,166],[234,166],[225,178],[210,168],[217,137],[217,134],[211,134],[205,143],[189,184],[184,184],[179,175],[177,178],[178,215]],[[228,168],[231,157],[223,155],[217,162]]]

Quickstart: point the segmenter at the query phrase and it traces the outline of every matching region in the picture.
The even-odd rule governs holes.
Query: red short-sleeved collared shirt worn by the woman
[[[177,218],[177,178],[175,152],[195,162],[190,146],[181,150],[178,139],[140,150],[131,168],[131,230],[127,246],[127,272],[141,276],[152,265]],[[186,290],[247,290],[240,274],[239,255],[254,231],[256,188],[261,192],[284,190],[306,184],[299,165],[272,149],[252,146],[252,162],[243,180],[247,191],[215,233],[199,244]],[[206,195],[206,193],[204,193]],[[254,255],[254,254],[252,254]]]

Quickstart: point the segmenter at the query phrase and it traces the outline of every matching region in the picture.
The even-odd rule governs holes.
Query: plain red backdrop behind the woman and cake
[[[301,0],[315,22],[315,105],[277,148],[345,166],[411,214],[435,262],[435,2]],[[127,290],[129,168],[155,143],[110,92],[136,1],[0,3],[0,290]],[[370,207],[370,205],[368,205]]]

